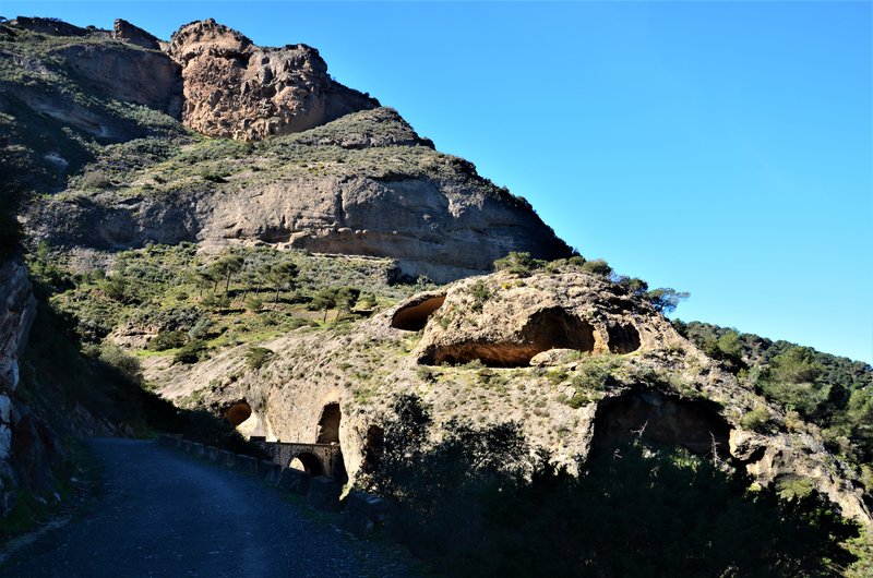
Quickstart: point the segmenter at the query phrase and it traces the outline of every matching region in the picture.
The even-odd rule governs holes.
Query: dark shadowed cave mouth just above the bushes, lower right
[[[682,446],[698,456],[730,458],[730,425],[711,401],[682,399],[659,392],[629,392],[603,400],[595,414],[591,451],[610,451],[638,437]]]

